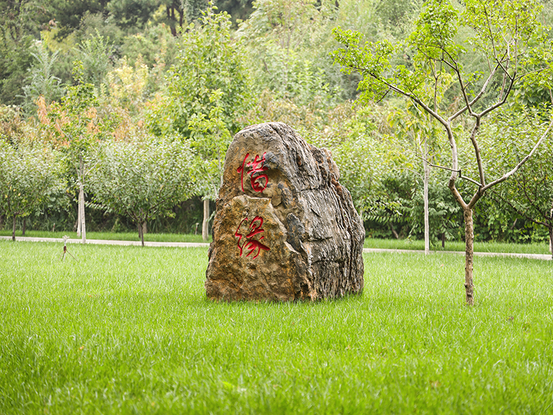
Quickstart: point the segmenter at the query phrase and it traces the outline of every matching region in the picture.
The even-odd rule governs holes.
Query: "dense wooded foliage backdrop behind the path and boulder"
[[[478,58],[478,50],[489,46],[487,42],[505,39],[475,37],[482,24],[478,19],[465,21],[463,30],[434,27],[430,3],[82,0],[71,3],[70,10],[63,1],[0,1],[0,142],[18,149],[21,140],[30,140],[35,147],[50,149],[64,167],[57,173],[62,192],[44,198],[45,203],[29,212],[28,223],[48,230],[76,228],[81,183],[83,201],[95,201],[88,207],[108,205],[102,201],[100,187],[87,181],[94,167],[89,163],[92,155],[115,142],[130,148],[140,144],[137,136],[153,135],[159,142],[177,140],[190,149],[190,158],[180,162],[189,168],[195,196],[189,192],[188,201],[175,200],[165,210],[174,219],[150,218],[148,228],[194,232],[201,221],[199,198],[214,198],[232,134],[246,124],[283,121],[308,141],[332,151],[369,236],[419,239],[424,231],[422,158],[447,165],[451,143],[440,126],[422,116],[413,100],[386,94],[385,89],[378,94],[379,89],[373,88],[376,95],[366,98],[377,98],[377,103],[354,103],[362,75],[342,73],[330,53],[339,48],[333,28],[362,30],[355,40],[372,42],[388,57],[387,68],[382,60],[368,62],[375,71],[389,80],[401,78],[436,111],[456,113],[464,100],[464,92],[453,86],[456,72],[435,66],[440,57],[431,44],[422,47],[425,39],[433,30],[445,30],[442,35],[449,43],[434,46],[462,57],[458,70],[468,77],[469,97],[478,93],[474,91],[486,81],[482,74],[490,70],[487,58]],[[507,3],[523,7],[525,2]],[[444,10],[453,22],[453,16],[467,16],[471,5],[453,1]],[[536,24],[547,24],[553,5],[542,1],[539,6],[543,10]],[[414,35],[409,37],[410,33]],[[541,37],[527,39],[524,47],[531,52],[518,64],[530,74],[543,68],[550,57],[538,46],[550,40],[547,30]],[[435,98],[429,95],[432,85],[415,85],[419,78],[413,75],[432,70],[439,73],[433,85],[439,92]],[[491,162],[485,167],[492,175],[504,172],[536,141],[538,136],[524,136],[525,131],[543,131],[550,120],[548,82],[553,68],[540,74],[541,78],[532,75],[514,85],[500,115],[485,116],[482,122],[485,128],[478,133],[490,151],[485,156]],[[367,82],[362,81],[362,88]],[[501,88],[502,78],[490,77],[487,91]],[[482,94],[482,106],[492,102],[491,92]],[[474,162],[474,151],[463,138],[471,131],[468,118],[458,116],[451,133],[463,173],[478,181],[479,172],[468,167]],[[534,161],[476,205],[477,240],[548,239],[552,140],[548,135]],[[431,170],[433,243],[464,237],[462,211],[445,187],[448,179],[449,172]],[[470,181],[456,185],[462,194],[474,192]],[[530,197],[521,198],[521,194]],[[12,216],[2,208],[0,226]],[[91,230],[135,226],[114,208],[88,209],[87,217]]]

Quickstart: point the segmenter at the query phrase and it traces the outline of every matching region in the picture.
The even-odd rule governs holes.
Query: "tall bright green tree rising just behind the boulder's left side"
[[[217,122],[222,122],[230,133],[238,132],[238,118],[250,106],[250,79],[243,48],[231,37],[231,24],[229,15],[217,14],[210,3],[200,26],[190,24],[182,34],[178,64],[169,71],[169,91],[157,107],[155,103],[152,106],[149,127],[156,135],[178,133],[188,138],[193,125],[189,122],[194,118],[209,119],[216,107]],[[218,96],[216,100],[214,93]],[[212,136],[215,141],[216,135]],[[206,162],[218,157],[218,145],[214,149],[215,153],[202,153]],[[207,229],[209,196],[202,196],[205,196],[203,228]],[[207,239],[207,234],[204,237]]]

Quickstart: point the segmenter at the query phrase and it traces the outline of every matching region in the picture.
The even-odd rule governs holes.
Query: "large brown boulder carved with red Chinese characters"
[[[289,301],[363,290],[364,228],[330,152],[281,122],[234,136],[216,202],[212,299]]]

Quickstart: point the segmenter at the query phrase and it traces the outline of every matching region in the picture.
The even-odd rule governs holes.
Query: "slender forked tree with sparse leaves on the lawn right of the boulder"
[[[505,104],[514,86],[525,79],[547,74],[542,82],[549,88],[553,83],[553,76],[545,71],[553,66],[553,59],[551,46],[537,21],[540,10],[538,0],[467,0],[462,12],[449,1],[430,0],[406,44],[398,46],[387,40],[359,46],[359,33],[334,30],[335,38],[343,45],[332,53],[335,62],[343,65],[346,73],[358,71],[364,77],[359,83],[361,101],[382,100],[390,92],[403,95],[438,120],[447,133],[451,147],[451,167],[445,167],[451,171],[448,187],[465,220],[465,290],[469,305],[474,304],[474,205],[486,190],[520,169],[545,138],[542,136],[508,172],[496,178],[486,174],[478,138],[485,117]],[[486,62],[485,75],[465,72],[468,54],[458,41],[460,28],[469,33],[466,44],[471,46],[471,57]],[[401,59],[395,53],[409,56],[405,50],[412,56],[409,62],[404,59],[404,64],[395,64]],[[456,94],[455,98],[446,102],[443,98],[451,92]],[[462,102],[460,107],[454,105],[457,99]],[[443,105],[438,105],[439,102]],[[467,166],[460,165],[457,138],[453,134],[453,123],[464,115],[472,120],[468,139],[476,160],[476,180],[466,175]],[[463,196],[456,185],[458,178],[476,185],[474,192]]]

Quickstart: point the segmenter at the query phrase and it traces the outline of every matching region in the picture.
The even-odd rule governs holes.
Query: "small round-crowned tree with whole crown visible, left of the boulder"
[[[91,164],[87,187],[95,208],[124,214],[138,225],[144,246],[144,223],[171,216],[172,208],[194,194],[192,154],[180,140],[143,136],[102,142]]]

